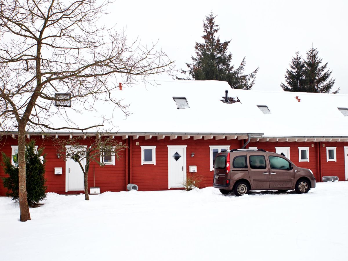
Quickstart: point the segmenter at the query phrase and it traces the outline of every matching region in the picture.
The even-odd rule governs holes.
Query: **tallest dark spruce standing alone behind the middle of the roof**
[[[238,68],[235,69],[234,65],[231,65],[232,54],[227,52],[231,41],[221,42],[219,37],[216,37],[219,25],[215,24],[215,17],[213,14],[205,17],[205,34],[202,37],[204,43],[196,42],[196,57],[192,56],[192,63],[186,63],[188,71],[182,70],[181,73],[188,72],[194,80],[227,81],[234,89],[251,89],[259,68],[249,74],[243,74],[245,56]]]

